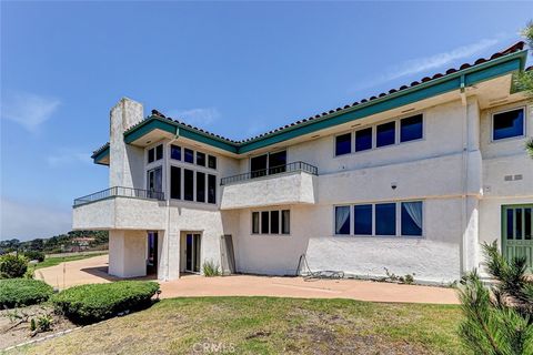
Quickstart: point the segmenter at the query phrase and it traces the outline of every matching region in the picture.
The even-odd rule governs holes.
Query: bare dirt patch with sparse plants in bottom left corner
[[[50,317],[51,329],[48,332],[32,332],[30,328],[31,320],[33,318],[37,322],[41,316]],[[76,327],[69,320],[56,314],[49,305],[2,310],[0,311],[0,351]]]

